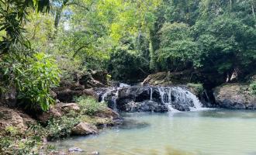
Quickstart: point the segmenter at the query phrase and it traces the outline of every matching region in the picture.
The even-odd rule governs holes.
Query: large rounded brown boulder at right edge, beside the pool
[[[214,96],[221,108],[256,108],[256,96],[251,94],[248,84],[223,84],[214,89]]]

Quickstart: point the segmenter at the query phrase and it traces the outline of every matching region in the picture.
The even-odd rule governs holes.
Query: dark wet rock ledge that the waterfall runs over
[[[168,112],[171,108],[179,111],[189,111],[195,107],[192,93],[181,87],[150,87],[132,86],[119,88],[118,90],[109,88],[99,95],[99,101],[109,103],[112,108],[123,112]],[[103,96],[103,97],[102,97]]]

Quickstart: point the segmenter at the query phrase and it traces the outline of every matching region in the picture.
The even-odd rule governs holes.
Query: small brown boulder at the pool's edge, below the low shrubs
[[[73,135],[89,135],[95,133],[99,133],[97,127],[87,122],[80,122],[72,129]]]

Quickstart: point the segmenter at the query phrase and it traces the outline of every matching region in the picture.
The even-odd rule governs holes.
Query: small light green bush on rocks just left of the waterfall
[[[107,108],[105,102],[97,102],[95,98],[81,96],[75,99],[81,108],[81,113],[85,115],[95,115],[96,112]]]

